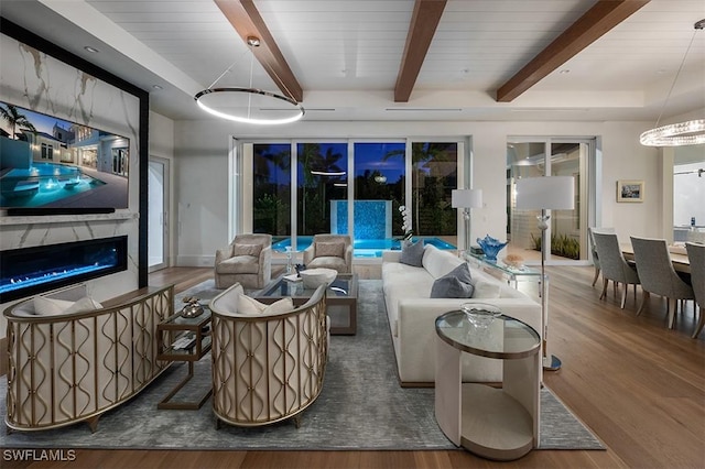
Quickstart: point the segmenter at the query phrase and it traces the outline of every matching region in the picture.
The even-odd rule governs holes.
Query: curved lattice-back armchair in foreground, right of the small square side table
[[[323,389],[326,287],[296,308],[291,298],[282,298],[280,305],[260,304],[263,310],[246,313],[253,303],[237,283],[210,302],[216,426],[261,426],[286,418],[299,426],[301,412]]]

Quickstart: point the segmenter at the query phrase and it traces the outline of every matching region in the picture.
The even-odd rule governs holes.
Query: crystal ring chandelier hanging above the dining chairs
[[[685,57],[687,57],[687,53],[693,45],[693,41],[695,40],[695,34],[697,31],[705,28],[705,20],[701,20],[694,24],[695,31],[693,32],[693,37],[691,39],[691,43],[685,51],[685,55],[683,56],[683,62],[681,62],[681,66],[675,74],[675,78],[673,79],[673,84],[671,85],[671,89],[669,90],[668,96],[665,97],[665,101],[663,101],[663,106],[661,107],[661,113],[663,113],[663,108],[665,108],[666,102],[669,102],[669,98],[671,97],[671,92],[673,91],[673,87],[675,86],[675,81],[679,79],[679,75],[681,74],[681,69],[683,68],[683,64],[685,63]],[[659,127],[659,121],[661,120],[661,113],[659,113],[659,119],[657,119],[657,126],[654,129],[647,130],[639,138],[639,142],[642,145],[647,146],[681,146],[681,145],[697,145],[701,143],[705,143],[705,119],[695,119],[688,120],[685,122],[672,123],[669,126]]]

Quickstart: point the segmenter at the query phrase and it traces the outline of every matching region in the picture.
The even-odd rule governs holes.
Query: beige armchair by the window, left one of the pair
[[[262,288],[271,279],[271,234],[238,234],[227,248],[216,251],[216,288],[236,282],[245,288]]]

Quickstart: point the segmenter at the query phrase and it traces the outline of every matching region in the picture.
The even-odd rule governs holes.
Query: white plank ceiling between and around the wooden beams
[[[254,3],[303,88],[305,120],[655,121],[705,18],[703,0],[651,0],[513,101],[497,102],[497,88],[595,1],[448,0],[409,101],[394,102],[413,0]],[[149,90],[152,109],[173,119],[209,118],[193,95],[232,64],[217,85],[249,85],[251,55],[213,0],[2,0],[0,14]],[[252,85],[274,90],[257,62]],[[692,111],[705,118],[705,31],[662,121]]]

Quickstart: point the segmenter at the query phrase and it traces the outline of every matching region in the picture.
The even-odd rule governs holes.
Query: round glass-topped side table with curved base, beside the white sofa
[[[487,329],[464,312],[436,319],[435,414],[456,446],[489,459],[518,459],[539,445],[541,339],[509,316]],[[502,388],[462,382],[462,355],[502,362]]]

